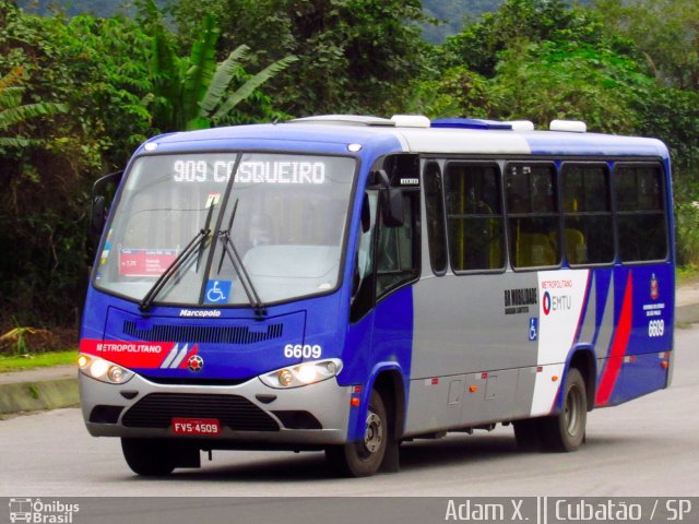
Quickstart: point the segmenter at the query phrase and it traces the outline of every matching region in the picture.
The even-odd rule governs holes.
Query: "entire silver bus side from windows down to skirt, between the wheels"
[[[506,294],[531,297],[536,287],[535,272],[428,276],[415,285],[406,436],[529,415],[538,299],[508,305]]]

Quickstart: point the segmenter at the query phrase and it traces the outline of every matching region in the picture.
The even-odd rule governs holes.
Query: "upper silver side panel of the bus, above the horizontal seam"
[[[536,273],[430,276],[415,284],[411,379],[536,366],[529,340],[537,303],[507,306],[506,291],[536,289]],[[512,303],[512,302],[510,302]]]

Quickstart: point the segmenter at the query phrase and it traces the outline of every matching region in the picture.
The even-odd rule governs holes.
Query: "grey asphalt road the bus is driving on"
[[[144,479],[117,439],[59,409],[0,421],[0,497],[699,496],[699,324],[675,341],[672,388],[590,414],[577,453],[522,453],[498,427],[407,443],[396,475],[333,478],[322,453],[214,452],[201,469]]]

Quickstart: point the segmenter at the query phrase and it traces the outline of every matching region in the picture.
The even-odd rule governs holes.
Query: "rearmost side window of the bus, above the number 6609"
[[[667,258],[663,174],[657,165],[627,164],[614,169],[614,198],[621,262]]]

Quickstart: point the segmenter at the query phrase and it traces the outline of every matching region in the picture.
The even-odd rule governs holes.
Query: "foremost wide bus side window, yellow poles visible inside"
[[[505,267],[505,224],[497,164],[450,163],[446,201],[454,273]]]

